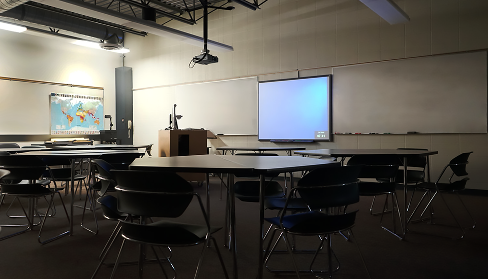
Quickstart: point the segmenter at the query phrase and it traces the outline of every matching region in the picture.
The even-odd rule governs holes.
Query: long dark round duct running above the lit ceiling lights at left
[[[63,29],[112,44],[121,44],[124,42],[124,32],[120,29],[37,7],[26,5],[17,6],[0,13],[0,17],[8,17],[47,27]]]

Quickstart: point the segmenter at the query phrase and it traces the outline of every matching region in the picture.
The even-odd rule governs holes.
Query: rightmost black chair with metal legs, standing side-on
[[[416,189],[423,190],[425,192],[422,195],[420,201],[415,206],[412,214],[408,218],[407,224],[412,221],[412,217],[414,216],[414,214],[418,210],[420,204],[425,199],[425,197],[428,196],[429,194],[431,194],[431,198],[429,199],[429,202],[427,203],[427,205],[425,205],[424,210],[420,214],[420,220],[424,221],[423,215],[428,210],[428,208],[432,207],[432,202],[433,202],[434,198],[437,195],[440,195],[442,202],[446,205],[447,210],[449,211],[450,215],[453,217],[453,219],[456,223],[455,227],[459,228],[462,232],[460,237],[451,237],[451,238],[457,238],[457,239],[463,238],[465,235],[464,228],[463,228],[463,226],[461,226],[461,223],[455,217],[455,215],[454,215],[453,211],[451,210],[451,207],[447,203],[445,195],[444,195],[445,193],[455,193],[456,196],[459,198],[461,204],[465,208],[467,214],[469,215],[469,217],[473,221],[473,225],[472,226],[470,225],[468,228],[471,229],[471,228],[474,228],[476,226],[476,221],[471,216],[471,213],[468,211],[468,208],[466,207],[463,200],[461,199],[461,196],[459,195],[459,192],[461,192],[465,189],[466,183],[469,180],[469,178],[466,177],[468,175],[468,172],[466,171],[466,165],[469,163],[468,158],[469,158],[469,155],[471,153],[473,153],[473,152],[466,152],[466,153],[463,153],[463,154],[460,154],[460,155],[457,155],[456,157],[454,157],[446,166],[444,166],[444,168],[442,169],[441,174],[437,178],[436,182],[422,182],[420,184],[415,185]],[[448,183],[441,182],[441,179],[446,174],[446,170],[448,168],[450,168],[452,171],[452,174],[449,177],[449,182]],[[457,178],[461,178],[461,177],[464,177],[464,178],[461,180],[452,181],[452,178],[454,176],[456,176]],[[426,219],[428,219],[431,224],[436,224],[433,222],[432,218],[433,218],[433,214],[431,213],[431,215]],[[410,231],[410,230],[408,230],[408,231]]]

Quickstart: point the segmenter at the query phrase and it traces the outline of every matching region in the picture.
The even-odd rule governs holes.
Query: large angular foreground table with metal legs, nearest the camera
[[[129,166],[131,170],[165,170],[174,172],[229,173],[228,184],[234,185],[233,175],[254,173],[260,181],[260,216],[259,216],[259,256],[258,278],[263,276],[263,237],[264,237],[264,179],[266,175],[282,172],[312,170],[318,167],[339,165],[338,162],[299,156],[224,156],[224,155],[192,155],[158,158],[140,158]],[[209,209],[209,185],[207,180],[207,213]],[[235,202],[234,189],[229,187],[230,204],[230,239],[233,258],[233,277],[237,279],[237,250],[235,239]]]

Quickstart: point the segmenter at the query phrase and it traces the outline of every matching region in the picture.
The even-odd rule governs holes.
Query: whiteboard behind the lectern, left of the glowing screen
[[[135,90],[134,120],[139,125],[169,126],[176,104],[179,129],[206,129],[215,134],[257,134],[257,77]],[[151,116],[157,111],[162,117]]]

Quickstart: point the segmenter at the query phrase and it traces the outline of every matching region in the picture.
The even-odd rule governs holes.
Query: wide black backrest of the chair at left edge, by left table
[[[0,168],[9,170],[9,175],[4,179],[15,183],[20,180],[39,179],[46,169],[46,164],[36,156],[11,155],[0,156]]]

